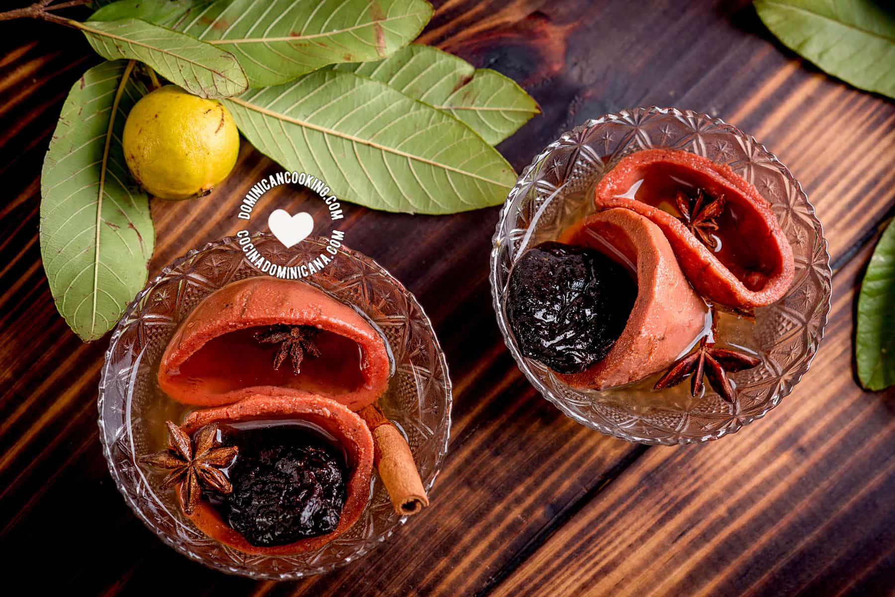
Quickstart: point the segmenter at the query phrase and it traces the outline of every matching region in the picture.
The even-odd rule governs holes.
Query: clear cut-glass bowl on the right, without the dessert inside
[[[795,255],[796,275],[777,303],[755,311],[750,346],[762,359],[732,376],[737,400],[709,390],[695,399],[663,400],[660,393],[571,388],[520,354],[507,322],[510,269],[525,249],[556,240],[571,222],[594,210],[592,192],[620,158],[640,149],[683,149],[729,164],[766,200]],[[500,212],[490,261],[491,294],[510,353],[535,388],[569,417],[603,433],[646,444],[718,439],[763,417],[808,370],[830,311],[827,243],[814,207],[788,168],[751,136],[718,118],[674,108],[636,108],[604,115],[553,141],[524,169]],[[751,324],[750,324],[751,325]]]

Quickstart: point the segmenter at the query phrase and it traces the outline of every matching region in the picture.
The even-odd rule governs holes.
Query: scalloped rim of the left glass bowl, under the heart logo
[[[273,238],[273,235],[271,235],[270,233],[254,233],[251,235],[251,238],[252,239]],[[268,573],[268,572],[252,571],[252,570],[248,569],[247,567],[245,569],[237,568],[237,567],[229,567],[229,566],[226,566],[225,564],[221,564],[217,561],[206,559],[206,558],[202,557],[199,553],[196,553],[193,550],[188,549],[186,546],[182,545],[180,542],[176,542],[174,539],[169,537],[167,533],[162,532],[162,530],[159,529],[157,527],[157,525],[153,525],[152,522],[149,521],[149,519],[147,518],[145,513],[142,511],[142,509],[140,507],[138,507],[137,504],[134,503],[132,496],[129,495],[128,492],[125,492],[122,489],[122,486],[121,486],[122,483],[119,479],[120,474],[116,471],[115,465],[114,465],[113,459],[112,459],[112,453],[111,453],[112,447],[109,445],[109,443],[107,442],[107,439],[106,439],[106,433],[105,433],[106,427],[105,427],[105,419],[104,419],[104,415],[103,415],[103,404],[104,404],[105,397],[106,397],[107,376],[110,374],[109,373],[109,367],[110,367],[109,358],[112,354],[113,349],[115,348],[115,345],[117,345],[119,338],[124,333],[124,328],[121,325],[122,321],[130,319],[132,312],[137,309],[137,307],[141,303],[141,300],[143,299],[143,297],[146,296],[147,294],[149,294],[149,292],[164,277],[166,277],[166,275],[169,274],[172,270],[180,267],[184,262],[192,259],[192,257],[199,254],[200,252],[206,252],[211,249],[214,249],[215,247],[223,246],[228,243],[235,243],[235,242],[238,242],[238,240],[239,240],[238,237],[236,237],[235,235],[232,235],[232,236],[228,235],[228,236],[219,238],[216,241],[211,241],[209,243],[206,243],[204,246],[201,246],[200,248],[191,249],[188,252],[185,252],[183,255],[181,255],[180,257],[177,257],[175,260],[171,261],[165,267],[163,267],[159,271],[158,276],[153,277],[151,280],[147,280],[146,285],[143,286],[141,291],[134,296],[132,302],[129,303],[127,305],[127,307],[124,309],[124,311],[122,312],[121,316],[119,317],[117,323],[115,324],[115,328],[113,329],[112,336],[109,338],[109,345],[103,354],[103,367],[102,367],[102,370],[100,371],[100,375],[99,375],[98,397],[97,397],[97,408],[98,408],[97,425],[98,425],[99,442],[100,442],[100,444],[102,444],[103,457],[106,460],[108,473],[112,477],[112,480],[115,482],[115,489],[124,498],[124,501],[127,504],[127,506],[131,508],[132,513],[135,516],[137,516],[137,518],[141,521],[141,523],[143,525],[145,525],[149,529],[149,531],[151,531],[153,534],[155,534],[167,546],[169,546],[170,548],[175,550],[178,554],[183,555],[186,558],[191,559],[192,561],[199,562],[200,564],[202,564],[205,567],[208,567],[209,569],[217,570],[219,572],[223,572],[228,575],[243,576],[244,578],[260,579],[260,580],[273,580],[273,581],[289,581],[289,580],[298,580],[298,579],[301,579],[301,578],[304,578],[307,576],[318,576],[321,574],[327,574],[328,572],[331,572],[339,567],[345,567],[349,563],[351,563],[357,559],[361,559],[362,557],[364,557],[365,555],[370,553],[370,551],[375,549],[377,546],[379,546],[380,543],[385,542],[389,537],[391,537],[392,534],[394,534],[398,528],[405,525],[409,516],[398,517],[395,524],[391,525],[385,533],[381,533],[377,537],[373,537],[371,539],[366,540],[363,543],[362,549],[354,552],[351,556],[349,556],[345,559],[341,559],[341,560],[332,562],[327,565],[322,565],[319,567],[311,568],[310,570],[307,570],[307,571],[302,570],[302,571],[298,571],[298,572]],[[305,240],[311,241],[313,243],[320,243],[320,244],[328,243],[328,239],[320,237],[320,236],[309,236]],[[388,269],[383,268],[379,264],[379,261],[374,260],[373,258],[371,258],[369,255],[367,255],[365,253],[358,252],[354,249],[351,249],[351,248],[345,246],[344,244],[337,251],[344,252],[352,259],[362,261],[362,262],[366,263],[367,265],[371,266],[373,269],[377,269],[377,270],[379,270],[379,272],[384,274],[384,276],[387,277],[388,280],[391,281],[391,283],[396,285],[396,287],[401,291],[401,293],[405,295],[405,297],[411,303],[411,305],[419,311],[420,319],[425,324],[426,328],[429,328],[432,332],[431,333],[432,345],[438,353],[439,365],[442,368],[442,370],[444,371],[445,410],[444,410],[444,416],[442,418],[442,423],[440,425],[440,426],[444,427],[444,439],[438,445],[438,457],[436,459],[435,470],[432,473],[432,476],[431,476],[431,479],[429,480],[429,482],[425,482],[425,481],[423,482],[423,487],[425,488],[426,493],[428,494],[432,490],[432,487],[434,486],[436,479],[438,479],[439,474],[441,473],[441,469],[445,462],[445,457],[447,456],[447,445],[450,441],[451,423],[452,423],[451,416],[452,416],[453,404],[454,404],[454,393],[453,393],[453,383],[450,379],[450,371],[447,369],[447,357],[444,353],[444,349],[441,347],[438,335],[435,334],[435,328],[432,326],[432,322],[429,318],[429,314],[426,313],[426,311],[422,308],[422,304],[420,304],[419,301],[417,301],[416,296],[412,292],[407,290],[406,286],[404,286],[404,284],[400,280],[398,280],[396,277],[394,277],[388,271]],[[264,276],[267,274],[260,273],[260,275]],[[312,286],[314,286],[314,285],[312,285]]]

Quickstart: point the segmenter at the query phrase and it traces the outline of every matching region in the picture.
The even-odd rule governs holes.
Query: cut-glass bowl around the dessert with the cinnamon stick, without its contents
[[[318,257],[325,238],[305,239],[284,249],[272,235],[252,243],[268,260],[299,264]],[[99,438],[109,472],[134,513],[183,555],[218,570],[274,580],[328,572],[360,558],[383,542],[406,516],[398,516],[377,475],[361,518],[320,550],[294,556],[246,555],[201,533],[183,516],[172,491],[159,492],[137,459],[149,453],[141,424],[144,401],[158,396],[155,371],[168,339],[204,297],[234,280],[268,274],[243,259],[235,238],[188,252],[150,281],[118,322],[99,381]],[[393,373],[379,399],[384,413],[405,433],[426,490],[447,452],[451,384],[447,362],[429,319],[404,286],[361,253],[340,249],[307,282],[362,311],[388,338]],[[142,403],[142,404],[141,404]],[[151,412],[151,409],[149,409]]]

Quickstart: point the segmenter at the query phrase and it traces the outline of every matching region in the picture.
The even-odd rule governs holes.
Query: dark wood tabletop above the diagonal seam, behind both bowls
[[[166,590],[174,578],[179,590],[209,594],[488,593],[501,590],[504,576],[524,567],[530,554],[541,557],[541,543],[575,525],[594,497],[601,503],[603,488],[613,488],[612,480],[638,456],[653,462],[657,453],[674,452],[585,430],[524,381],[490,310],[496,209],[413,217],[350,208],[351,244],[417,294],[447,352],[455,425],[433,507],[362,562],[298,584],[222,576],[166,548],[124,505],[99,451],[95,397],[105,341],[81,345],[73,337],[55,313],[39,265],[40,163],[65,92],[96,61],[76,32],[47,35],[50,28],[23,23],[13,30],[7,23],[10,35],[0,41],[0,175],[13,198],[0,207],[7,231],[0,239],[6,388],[0,546],[12,554],[11,567],[35,570],[41,562],[33,554],[60,540],[68,555],[54,561],[44,588],[59,583],[85,594],[149,593]],[[544,115],[500,148],[517,169],[589,116],[674,105],[720,115],[778,152],[817,205],[834,256],[847,255],[895,203],[891,103],[831,81],[781,51],[747,3],[694,4],[685,11],[661,2],[633,10],[631,3],[571,0],[449,1],[439,5],[423,39],[513,76],[544,107]],[[260,175],[277,170],[243,143],[234,175],[208,198],[154,201],[158,247],[151,273],[233,233],[238,226],[230,214],[239,198]],[[284,202],[288,193],[279,189],[271,200]],[[300,202],[296,195],[294,205]],[[838,345],[847,351],[848,338]],[[788,400],[817,388],[806,381]],[[765,427],[771,431],[765,422],[747,431]],[[515,578],[510,585],[518,587]]]

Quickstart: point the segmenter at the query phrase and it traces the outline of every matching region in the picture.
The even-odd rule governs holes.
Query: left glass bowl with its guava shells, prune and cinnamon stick
[[[284,266],[328,243],[252,242]],[[164,269],[119,322],[100,437],[165,542],[289,579],[357,559],[429,504],[450,405],[429,320],[375,262],[343,247],[315,276],[279,279],[227,238]]]

